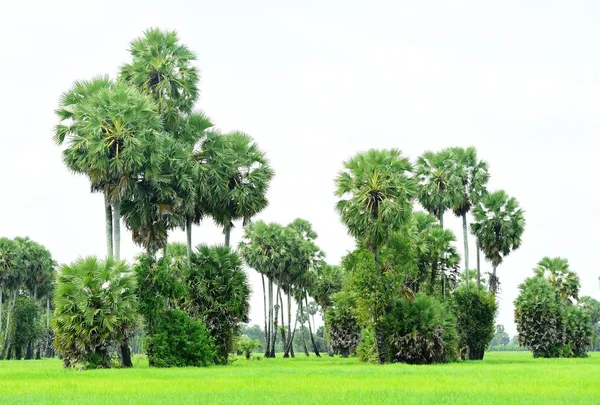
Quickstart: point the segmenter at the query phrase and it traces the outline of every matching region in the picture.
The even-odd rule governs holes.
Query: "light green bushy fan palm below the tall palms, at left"
[[[127,345],[136,322],[135,278],[124,262],[80,258],[60,269],[54,295],[54,347],[65,367],[110,367],[111,347]]]

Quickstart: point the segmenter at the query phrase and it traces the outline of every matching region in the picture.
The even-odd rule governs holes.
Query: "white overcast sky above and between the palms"
[[[526,210],[522,247],[498,268],[497,322],[514,334],[517,286],[543,256],[568,258],[581,294],[600,298],[599,19],[594,1],[2,1],[0,236],[61,263],[105,255],[102,197],[64,167],[54,109],[74,80],[115,77],[146,28],[175,29],[198,55],[198,108],[252,135],[276,171],[259,217],[308,219],[331,263],[354,246],[334,211],[344,160],[477,147],[490,190]],[[194,229],[195,244],[217,242],[212,224]],[[121,249],[140,251],[128,232]]]

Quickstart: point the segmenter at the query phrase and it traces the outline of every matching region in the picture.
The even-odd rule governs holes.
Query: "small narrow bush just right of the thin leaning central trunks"
[[[342,357],[354,352],[360,341],[355,310],[354,297],[347,292],[340,292],[333,296],[333,307],[329,307],[325,315],[331,347]]]

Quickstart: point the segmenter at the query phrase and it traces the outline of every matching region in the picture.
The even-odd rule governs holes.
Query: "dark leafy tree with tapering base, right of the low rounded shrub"
[[[190,256],[189,299],[215,340],[218,364],[227,364],[239,325],[248,322],[250,285],[240,256],[227,246],[198,246]]]

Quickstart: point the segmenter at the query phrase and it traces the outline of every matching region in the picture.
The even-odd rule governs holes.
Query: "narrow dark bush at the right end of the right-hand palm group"
[[[469,360],[483,360],[494,337],[494,319],[498,304],[494,294],[475,289],[459,289],[453,296],[459,347],[469,348]]]

